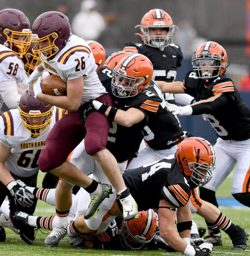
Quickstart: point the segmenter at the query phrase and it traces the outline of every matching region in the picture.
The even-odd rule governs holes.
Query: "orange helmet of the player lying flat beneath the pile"
[[[128,222],[122,221],[118,236],[122,247],[126,250],[138,250],[146,243],[149,243],[157,227],[157,218],[154,210],[138,212],[138,218]]]

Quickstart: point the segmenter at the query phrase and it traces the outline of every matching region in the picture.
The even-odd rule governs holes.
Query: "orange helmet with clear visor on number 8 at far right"
[[[192,57],[193,71],[198,78],[210,79],[223,75],[227,67],[227,53],[216,42],[208,41],[198,47]],[[205,70],[202,74],[201,70]],[[209,71],[213,70],[211,74]]]

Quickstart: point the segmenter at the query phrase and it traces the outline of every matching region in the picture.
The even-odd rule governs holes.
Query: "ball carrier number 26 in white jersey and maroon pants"
[[[67,161],[70,152],[85,138],[86,152],[97,159],[120,195],[124,218],[129,220],[137,217],[136,202],[124,184],[114,156],[106,149],[109,121],[98,112],[92,112],[85,123],[80,120],[79,107],[90,99],[112,105],[110,96],[96,74],[95,59],[89,45],[82,38],[71,34],[68,18],[56,11],[43,13],[36,18],[31,41],[36,45],[32,51],[42,63],[35,68],[27,83],[38,78],[34,85],[35,97],[67,110],[47,138],[39,157],[39,168],[42,172],[50,171],[84,187],[92,197],[86,217],[95,215],[101,201],[111,194],[111,186],[99,184]],[[42,93],[40,76],[44,69],[67,82],[67,95],[56,97]],[[55,148],[60,148],[60,152]],[[57,206],[57,214],[62,218],[58,218],[60,222],[45,240],[48,246],[59,233],[66,234],[68,209],[60,207]]]

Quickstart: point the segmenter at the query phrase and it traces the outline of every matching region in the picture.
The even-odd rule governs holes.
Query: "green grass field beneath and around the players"
[[[230,189],[232,184],[233,174],[229,175],[229,177],[223,182],[221,187],[218,189],[216,195],[217,197],[230,198]],[[42,174],[39,174],[39,186],[41,185]],[[229,207],[221,207],[221,211],[229,218],[234,224],[240,225],[242,228],[246,229],[250,232],[250,210],[248,208],[229,208]],[[55,207],[50,206],[42,201],[38,201],[36,211],[34,215],[38,216],[50,216],[55,214]],[[193,219],[197,223],[198,226],[206,226],[205,221],[202,217],[197,214],[193,214]],[[5,228],[6,231],[6,241],[0,243],[0,255],[1,256],[61,256],[61,255],[119,255],[119,256],[159,256],[159,255],[183,255],[181,253],[168,253],[164,250],[155,250],[149,251],[144,249],[143,251],[104,251],[104,250],[94,250],[94,249],[71,249],[70,243],[65,237],[59,243],[58,247],[51,248],[46,247],[44,245],[44,240],[47,237],[47,234],[42,234],[38,231],[36,235],[36,241],[33,245],[28,245],[24,243],[19,235],[15,234],[12,230]],[[207,235],[207,233],[206,233]],[[250,242],[247,241],[247,250],[246,251],[232,251],[230,248],[232,247],[232,242],[229,239],[228,235],[222,231],[223,237],[223,245],[216,246],[213,248],[213,255],[250,255]]]

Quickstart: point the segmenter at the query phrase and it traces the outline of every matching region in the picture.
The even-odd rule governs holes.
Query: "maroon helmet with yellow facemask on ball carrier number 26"
[[[35,43],[32,49],[40,61],[54,58],[66,44],[71,35],[68,18],[58,11],[48,11],[38,16],[32,26],[31,41]],[[39,49],[42,41],[48,40],[47,47]]]

